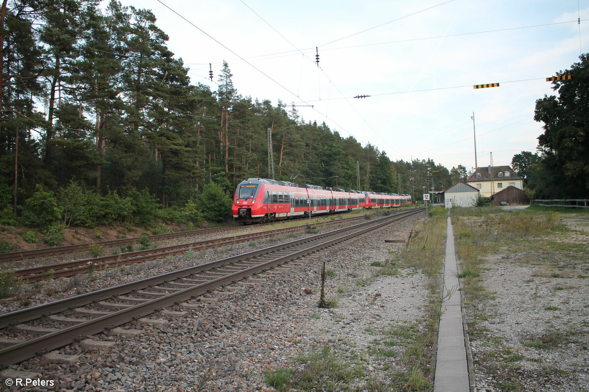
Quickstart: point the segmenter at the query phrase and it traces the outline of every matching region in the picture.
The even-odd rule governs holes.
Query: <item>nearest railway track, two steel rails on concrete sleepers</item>
[[[422,212],[406,210],[305,239],[70,297],[0,316],[0,366],[8,366],[164,311],[221,286],[272,269]],[[40,334],[40,336],[39,336]]]

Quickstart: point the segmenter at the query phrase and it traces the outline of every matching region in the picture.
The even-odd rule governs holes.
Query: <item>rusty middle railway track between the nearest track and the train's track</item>
[[[377,215],[377,214],[375,214]],[[313,223],[313,226],[322,227],[330,224],[350,223],[356,220],[364,219],[363,217],[348,217],[337,220],[327,220],[325,222]],[[228,226],[231,227],[231,226]],[[241,226],[239,226],[241,227]],[[47,279],[57,279],[58,277],[74,276],[77,274],[88,273],[89,271],[103,270],[114,267],[120,267],[128,264],[140,263],[146,260],[166,257],[170,254],[184,253],[188,250],[194,252],[198,250],[211,249],[214,247],[225,246],[246,242],[250,240],[263,239],[280,234],[299,232],[305,230],[307,225],[286,227],[283,229],[268,230],[265,232],[247,233],[239,236],[223,237],[211,240],[193,241],[181,244],[157,247],[154,249],[137,250],[121,254],[111,254],[108,256],[93,257],[92,259],[72,260],[70,262],[47,264],[38,267],[29,267],[14,270],[15,277],[23,283],[40,282]],[[209,233],[209,232],[207,232]]]

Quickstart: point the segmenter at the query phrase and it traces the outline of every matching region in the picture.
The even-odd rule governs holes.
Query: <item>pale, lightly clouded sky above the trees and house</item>
[[[475,135],[479,167],[536,152],[546,78],[589,52],[589,0],[120,1],[151,9],[192,83],[216,91],[227,61],[244,97],[448,169],[476,167]]]

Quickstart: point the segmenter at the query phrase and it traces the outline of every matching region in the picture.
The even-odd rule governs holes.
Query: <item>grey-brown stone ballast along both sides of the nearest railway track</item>
[[[41,364],[35,358],[12,368],[37,372],[44,380],[57,380],[52,389],[64,391],[272,390],[264,384],[264,371],[299,368],[298,357],[327,345],[340,356],[360,358],[366,378],[386,382],[392,371],[399,370],[395,367],[398,355],[386,359],[375,355],[374,342],[383,339],[386,330],[415,324],[423,316],[426,278],[403,269],[396,276],[379,276],[379,268],[370,264],[389,259],[404,246],[385,244],[384,239],[406,239],[409,226],[393,224],[349,240],[257,276],[262,282],[250,280],[224,287],[188,309],[181,305],[170,309],[186,311],[177,318],[150,316],[164,320],[162,325],[133,322],[123,326],[141,330],[137,336],[123,337],[111,331],[92,338],[115,342],[110,349],[84,349],[72,344],[59,350],[81,356],[72,364]],[[207,256],[227,257],[268,244],[241,244]],[[198,253],[191,260],[185,255],[97,272],[95,280],[84,277],[74,283],[48,283],[19,300],[28,300],[31,305],[41,303],[52,284],[71,287],[58,294],[67,296],[137,280],[201,262],[205,255]],[[328,299],[337,299],[335,309],[317,308],[322,262],[331,272],[326,293]],[[1,305],[2,309],[11,309],[10,301]],[[394,346],[394,350],[401,351],[402,345]]]

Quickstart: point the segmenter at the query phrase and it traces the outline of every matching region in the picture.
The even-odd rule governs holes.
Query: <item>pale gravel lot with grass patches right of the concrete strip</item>
[[[486,257],[492,297],[466,314],[487,316],[469,334],[477,391],[589,390],[589,220],[564,223],[574,231],[545,239],[561,250],[532,243]]]

